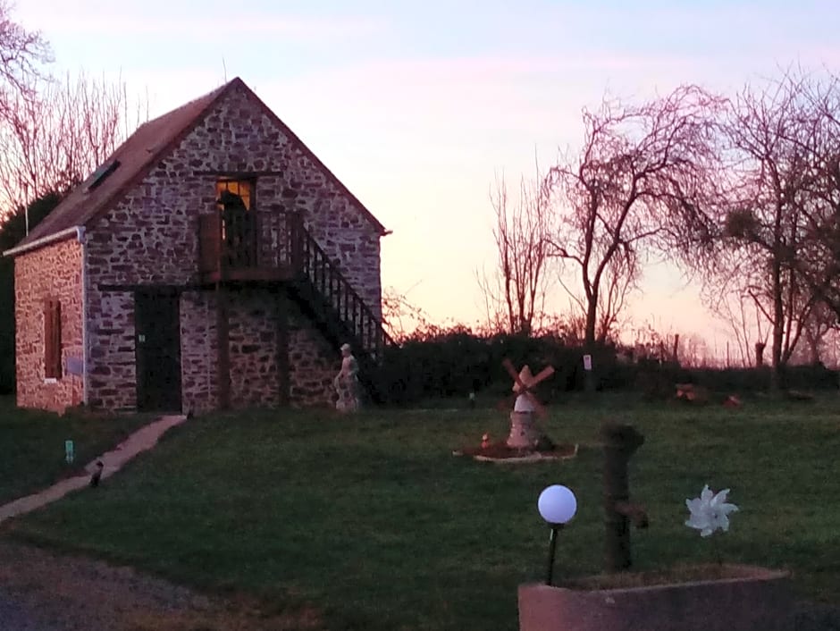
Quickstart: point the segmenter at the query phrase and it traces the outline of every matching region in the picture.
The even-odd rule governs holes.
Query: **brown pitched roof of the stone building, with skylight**
[[[342,193],[351,199],[353,204],[374,225],[377,231],[382,235],[388,233],[384,226],[382,226],[382,223],[365,208],[356,196],[341,183],[303,141],[280,120],[277,114],[274,114],[237,77],[203,97],[199,97],[186,105],[181,105],[181,107],[172,110],[168,114],[164,114],[140,125],[131,134],[130,138],[123,142],[97,168],[96,172],[92,173],[87,180],[73,189],[58,206],[55,206],[53,212],[47,215],[41,223],[38,223],[14,250],[17,251],[21,248],[26,248],[26,246],[34,247],[37,245],[36,242],[49,240],[50,237],[54,236],[58,237],[60,233],[69,233],[70,229],[75,226],[86,226],[98,215],[113,207],[135,183],[146,176],[147,172],[155,164],[170,154],[177,147],[178,143],[204,120],[205,115],[212,109],[212,106],[234,86],[244,88],[244,94],[264,111],[294,147],[302,151],[315,164],[316,168],[322,169],[327,174],[328,178]]]

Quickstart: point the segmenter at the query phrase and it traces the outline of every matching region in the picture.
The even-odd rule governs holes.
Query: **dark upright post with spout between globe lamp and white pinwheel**
[[[608,572],[630,568],[630,521],[647,527],[643,507],[631,504],[627,462],[644,444],[644,436],[632,425],[606,422],[601,425],[604,444],[604,525],[606,526],[605,564]]]

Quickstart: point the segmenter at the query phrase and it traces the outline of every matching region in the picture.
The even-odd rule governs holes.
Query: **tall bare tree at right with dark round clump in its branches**
[[[760,88],[743,88],[724,124],[731,174],[726,234],[742,286],[769,323],[774,389],[784,387],[784,368],[823,299],[814,284],[827,286],[804,273],[820,259],[816,233],[830,217],[815,192],[827,174],[827,143],[840,139],[832,138],[831,121],[813,98],[819,89],[811,75],[790,70]],[[821,262],[811,269],[825,271]]]

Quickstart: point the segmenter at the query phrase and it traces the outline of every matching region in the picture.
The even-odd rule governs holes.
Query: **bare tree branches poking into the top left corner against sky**
[[[41,34],[13,21],[12,5],[0,0],[0,116],[15,99],[35,96],[34,83],[45,76],[41,66],[51,61]]]

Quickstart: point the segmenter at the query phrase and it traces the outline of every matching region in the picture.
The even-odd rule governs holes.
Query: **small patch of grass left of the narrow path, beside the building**
[[[0,397],[0,504],[40,491],[64,475],[78,473],[101,453],[112,450],[149,416],[58,416],[14,407]],[[75,459],[64,461],[64,441],[73,441]]]

